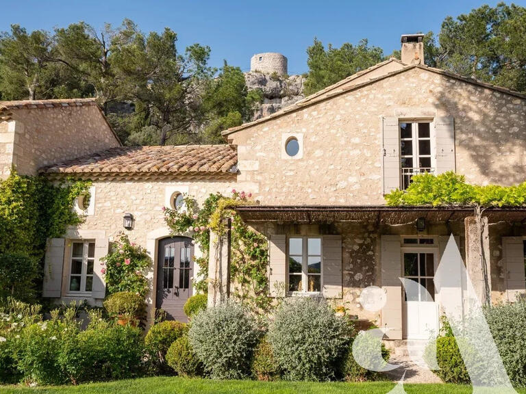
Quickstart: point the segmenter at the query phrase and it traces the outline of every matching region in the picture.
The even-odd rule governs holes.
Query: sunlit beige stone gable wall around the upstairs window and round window
[[[238,179],[257,183],[264,205],[383,204],[382,116],[453,116],[458,173],[478,184],[526,179],[526,100],[421,68],[229,135]],[[289,135],[302,140],[301,158],[284,154]]]

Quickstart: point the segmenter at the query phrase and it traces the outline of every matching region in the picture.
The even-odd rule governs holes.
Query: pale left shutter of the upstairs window
[[[384,194],[400,188],[400,137],[398,118],[382,119]]]

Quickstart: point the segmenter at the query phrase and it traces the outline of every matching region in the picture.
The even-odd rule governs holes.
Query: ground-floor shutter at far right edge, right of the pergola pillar
[[[515,302],[526,293],[524,274],[524,243],[521,237],[503,237],[508,301]]]

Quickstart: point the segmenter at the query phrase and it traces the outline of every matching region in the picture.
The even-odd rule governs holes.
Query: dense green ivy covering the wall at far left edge
[[[0,181],[0,285],[11,296],[34,296],[30,285],[38,277],[47,239],[62,237],[67,226],[82,222],[73,205],[89,187],[86,181],[51,183],[14,170]]]

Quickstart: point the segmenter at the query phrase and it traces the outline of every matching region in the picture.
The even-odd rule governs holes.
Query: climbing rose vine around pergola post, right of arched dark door
[[[203,257],[194,286],[201,293],[208,291],[208,261],[210,257],[210,230],[223,236],[231,227],[231,297],[246,304],[256,313],[270,306],[268,298],[268,242],[264,235],[247,226],[234,211],[238,205],[249,205],[251,194],[232,190],[232,196],[210,194],[199,209],[196,200],[185,196],[185,209],[164,209],[166,224],[175,234],[191,233],[201,246]],[[213,258],[213,257],[212,257]]]

